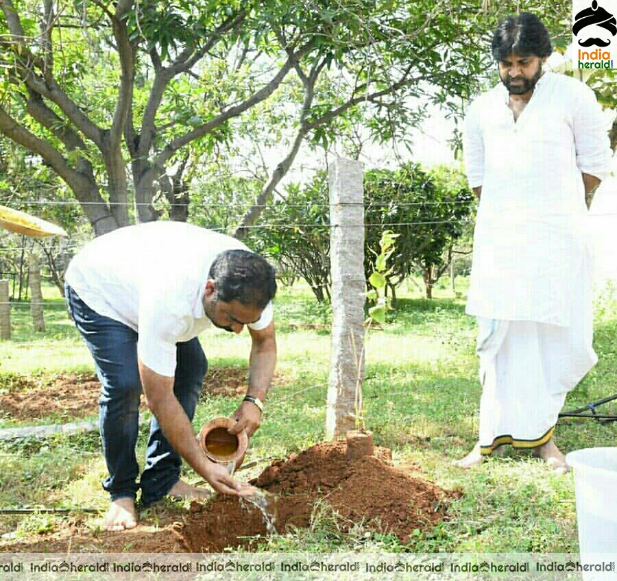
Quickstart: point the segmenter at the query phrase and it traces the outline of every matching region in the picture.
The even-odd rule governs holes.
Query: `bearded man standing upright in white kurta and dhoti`
[[[483,386],[479,441],[455,462],[465,468],[510,444],[566,471],[555,423],[597,361],[587,214],[609,140],[592,90],[543,71],[551,51],[537,16],[505,18],[492,41],[501,84],[465,119],[479,199],[467,312]]]

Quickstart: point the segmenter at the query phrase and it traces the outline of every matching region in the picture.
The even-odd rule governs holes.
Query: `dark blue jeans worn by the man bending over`
[[[135,499],[141,487],[141,502],[152,504],[178,482],[182,458],[152,417],[145,467],[137,484],[139,467],[135,445],[142,393],[137,367],[138,334],[131,327],[92,310],[68,284],[64,290],[66,305],[93,356],[101,382],[99,430],[109,472],[103,488],[113,501],[123,497]],[[197,337],[176,343],[173,393],[191,421],[207,371],[208,360]]]

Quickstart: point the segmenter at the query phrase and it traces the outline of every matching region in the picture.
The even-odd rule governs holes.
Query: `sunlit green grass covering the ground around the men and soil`
[[[464,281],[457,280],[457,290]],[[555,476],[524,452],[479,469],[461,471],[451,460],[474,445],[481,393],[474,353],[476,326],[464,312],[464,297],[448,284],[428,301],[410,285],[399,292],[398,308],[366,341],[363,391],[367,428],[378,445],[393,449],[394,460],[420,466],[424,478],[463,492],[450,506],[450,518],[418,533],[405,546],[356,523],[343,533],[328,506],[315,511],[311,528],[274,536],[261,545],[269,551],[335,552],[577,552],[572,474]],[[617,309],[608,289],[596,300],[595,348],[599,362],[568,395],[566,408],[617,393]],[[264,460],[300,451],[324,438],[330,365],[330,309],[317,304],[303,286],[282,288],[277,298],[278,367],[282,378],[267,399],[263,425],[252,438],[250,459]],[[88,351],[66,317],[59,297],[45,305],[47,331],[34,334],[26,306],[13,310],[14,337],[0,343],[0,384],[10,389],[12,374],[40,376],[59,371],[91,371]],[[232,336],[206,330],[202,345],[210,368],[245,367],[250,349],[246,333]],[[195,430],[215,415],[228,415],[239,397],[204,394]],[[603,406],[617,412],[617,402]],[[568,452],[612,445],[617,423],[582,419],[559,421],[555,441]],[[146,428],[138,443],[145,451]],[[263,464],[262,464],[263,466]],[[260,467],[239,473],[250,478]],[[197,477],[185,469],[193,482]],[[80,506],[103,508],[100,488],[105,467],[97,434],[53,436],[45,441],[0,443],[0,507]],[[53,518],[0,518],[0,533],[27,535],[53,529]]]

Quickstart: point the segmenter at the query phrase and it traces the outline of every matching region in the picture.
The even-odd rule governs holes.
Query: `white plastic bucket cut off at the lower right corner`
[[[581,563],[596,569],[583,571],[583,580],[615,580],[615,570],[597,569],[617,556],[617,447],[575,450],[566,462],[574,469]]]

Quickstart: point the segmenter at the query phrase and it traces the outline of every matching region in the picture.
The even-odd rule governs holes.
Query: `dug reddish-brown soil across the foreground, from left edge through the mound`
[[[431,529],[446,517],[452,493],[391,465],[387,449],[348,461],[345,445],[319,443],[272,462],[252,480],[268,499],[265,510],[276,532],[327,519],[340,532],[360,524],[407,543],[414,530]],[[254,550],[268,534],[261,510],[226,495],[186,509],[142,511],[140,516],[142,525],[133,531],[92,532],[91,523],[89,528],[66,523],[64,532],[38,536],[32,543],[2,543],[0,551],[64,552],[72,547],[73,552],[212,553],[228,547]]]

